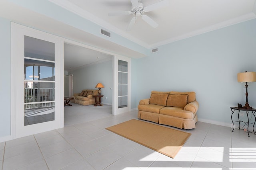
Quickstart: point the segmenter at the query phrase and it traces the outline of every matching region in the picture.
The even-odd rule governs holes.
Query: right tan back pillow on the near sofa
[[[187,94],[169,94],[166,106],[184,108],[188,102]]]

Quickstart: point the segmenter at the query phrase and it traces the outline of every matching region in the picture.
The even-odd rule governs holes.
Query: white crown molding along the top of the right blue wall
[[[254,5],[254,7],[255,7],[255,5]],[[256,18],[256,14],[254,12],[251,12],[251,13],[245,14],[243,16],[239,16],[239,17],[236,17],[236,18],[233,18],[233,19],[230,19],[230,20],[226,20],[226,21],[214,24],[214,25],[210,25],[208,27],[204,27],[202,29],[197,29],[195,31],[192,31],[192,32],[189,32],[189,33],[177,36],[177,37],[173,37],[173,38],[165,40],[165,41],[161,41],[159,43],[152,44],[150,46],[150,48],[151,49],[156,48],[156,47],[159,47],[161,45],[173,43],[175,41],[179,41],[179,40],[186,39],[186,38],[189,38],[189,37],[194,37],[196,35],[207,33],[207,32],[210,32],[210,31],[214,31],[216,29],[228,27],[230,25],[234,25],[236,23],[241,23],[241,22],[244,22],[244,21],[252,20],[252,19],[255,19],[255,18]]]

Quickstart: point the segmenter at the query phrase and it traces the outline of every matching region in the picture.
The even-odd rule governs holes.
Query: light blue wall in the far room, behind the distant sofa
[[[104,63],[86,66],[79,70],[69,72],[73,74],[73,91],[80,93],[84,89],[98,89],[95,88],[97,83],[102,83],[104,88],[101,89],[103,104],[112,105],[112,60]],[[107,97],[107,99],[105,99]]]

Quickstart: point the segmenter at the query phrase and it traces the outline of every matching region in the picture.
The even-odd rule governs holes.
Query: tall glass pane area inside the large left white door
[[[24,36],[24,126],[55,120],[54,43]]]

